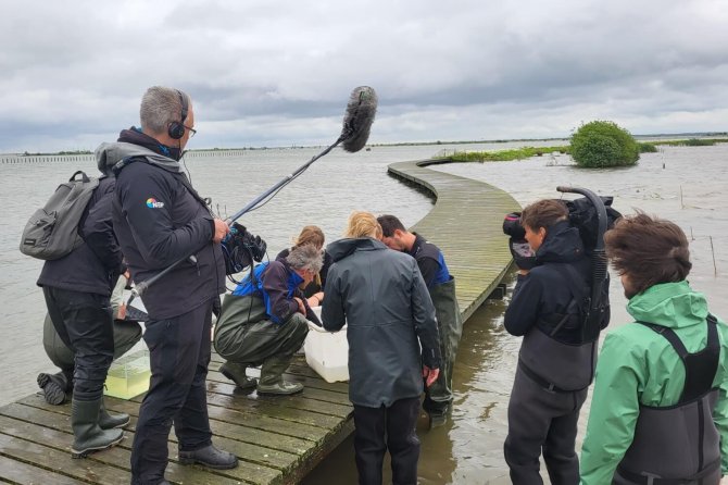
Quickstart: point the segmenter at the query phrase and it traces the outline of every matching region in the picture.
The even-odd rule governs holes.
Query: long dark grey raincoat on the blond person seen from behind
[[[419,396],[423,363],[440,366],[440,344],[417,262],[368,237],[341,239],[326,250],[334,264],[322,320],[331,332],[347,324],[349,399],[379,408]]]

